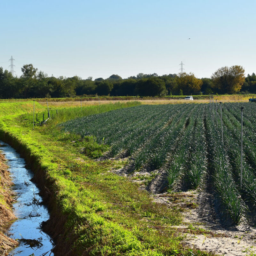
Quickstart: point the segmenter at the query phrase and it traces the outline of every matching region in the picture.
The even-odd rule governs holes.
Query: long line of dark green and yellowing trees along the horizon
[[[123,79],[112,75],[107,79],[92,77],[47,76],[32,64],[23,65],[20,77],[0,67],[0,98],[62,98],[86,95],[165,96],[256,93],[256,75],[244,75],[241,66],[222,67],[211,78],[196,78],[192,73],[158,76],[139,73]]]

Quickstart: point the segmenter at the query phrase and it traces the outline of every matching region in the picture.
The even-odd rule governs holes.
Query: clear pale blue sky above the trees
[[[93,80],[185,72],[256,73],[255,0],[1,1],[0,66]],[[190,38],[190,39],[188,39]]]

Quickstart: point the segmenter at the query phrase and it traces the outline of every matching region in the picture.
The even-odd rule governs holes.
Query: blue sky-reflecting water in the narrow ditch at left
[[[24,158],[20,157],[15,149],[0,141],[0,150],[5,154],[9,171],[16,193],[16,203],[13,204],[14,214],[17,220],[14,221],[7,235],[13,239],[19,239],[20,245],[9,252],[9,255],[19,256],[40,256],[53,255],[53,243],[41,229],[41,223],[49,219],[48,209],[42,205],[42,197],[39,196],[39,189],[30,181],[33,172],[25,167]]]

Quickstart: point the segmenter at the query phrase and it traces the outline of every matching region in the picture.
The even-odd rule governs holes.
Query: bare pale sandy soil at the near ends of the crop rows
[[[155,202],[180,210],[183,221],[181,225],[173,228],[185,236],[182,243],[184,246],[217,255],[256,255],[255,221],[252,218],[235,225],[228,214],[221,209],[220,200],[210,182],[207,182],[205,188],[198,190],[183,190],[182,187],[176,187],[173,193],[167,193],[164,171],[129,174],[126,168],[112,171],[139,183],[140,189],[150,192]],[[150,180],[151,173],[155,176]],[[147,182],[148,180],[150,181]]]

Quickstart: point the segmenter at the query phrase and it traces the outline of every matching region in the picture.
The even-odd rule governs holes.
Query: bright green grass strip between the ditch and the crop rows
[[[114,104],[88,107],[84,115],[108,111],[109,106]],[[2,116],[0,136],[23,152],[36,173],[45,173],[56,204],[52,214],[67,218],[59,239],[68,239],[72,255],[208,255],[180,246],[182,236],[172,230],[181,221],[179,212],[153,202],[138,185],[109,172],[120,161],[88,157],[105,148],[98,148],[93,138],[60,131],[56,124],[72,118],[71,112],[67,109],[34,131],[31,115]]]

